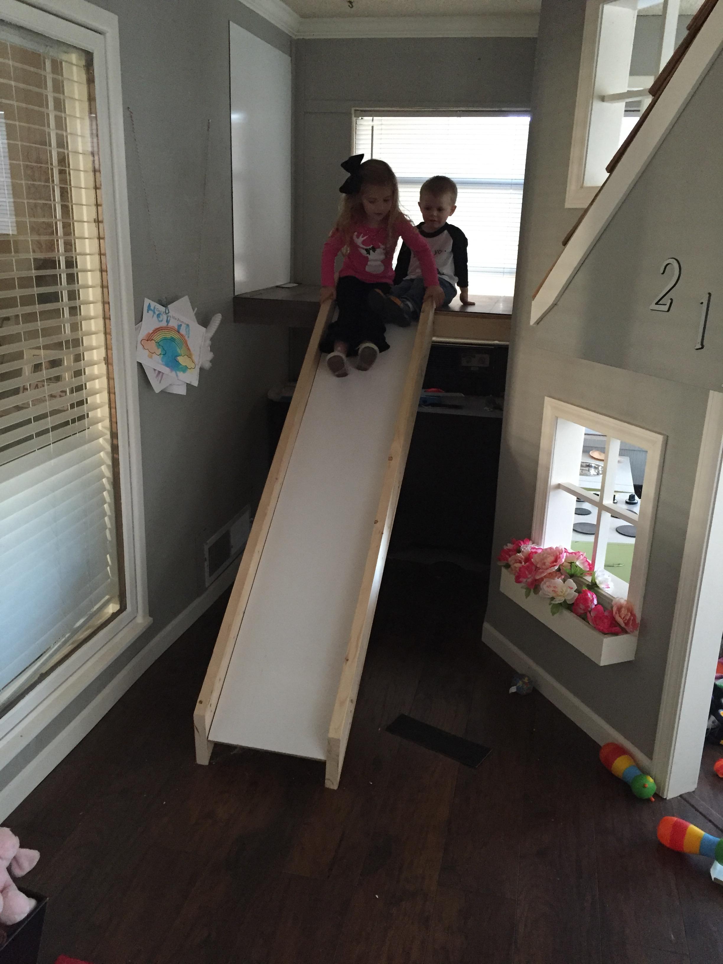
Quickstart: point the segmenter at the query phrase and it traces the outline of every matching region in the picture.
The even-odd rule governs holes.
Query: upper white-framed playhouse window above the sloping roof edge
[[[650,103],[648,90],[701,0],[588,0],[580,54],[567,207],[585,207]]]

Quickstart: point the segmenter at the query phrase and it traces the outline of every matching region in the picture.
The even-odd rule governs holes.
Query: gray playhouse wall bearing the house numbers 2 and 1
[[[665,434],[644,623],[633,662],[598,667],[501,596],[498,572],[487,619],[652,755],[708,388],[720,386],[723,332],[710,326],[710,350],[694,345],[698,301],[720,288],[723,192],[715,165],[696,157],[723,149],[715,107],[723,66],[694,94],[558,306],[533,329],[532,292],[579,214],[564,208],[564,198],[583,7],[584,0],[543,0],[495,547],[530,532],[546,395]],[[660,265],[672,254],[683,261],[677,310],[651,312]]]

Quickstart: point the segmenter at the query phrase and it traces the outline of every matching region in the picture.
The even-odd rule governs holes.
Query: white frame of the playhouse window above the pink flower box
[[[628,520],[634,522],[637,530],[630,571],[628,600],[634,606],[637,615],[640,616],[645,595],[645,580],[648,574],[657,495],[660,488],[665,436],[650,432],[648,429],[639,428],[636,425],[618,421],[617,418],[611,418],[608,415],[589,412],[555,398],[546,398],[543,411],[535,508],[532,519],[532,541],[538,546],[560,545],[555,530],[565,526],[569,528],[570,525],[568,515],[569,496],[576,495],[576,493],[573,492],[575,486],[571,486],[568,479],[571,473],[574,478],[579,474],[580,458],[578,432],[571,429],[571,443],[568,446],[565,445],[565,429],[571,423],[575,426],[594,429],[601,435],[607,436],[608,439],[613,438],[638,445],[648,452],[645,466],[645,497],[640,502],[638,514],[634,517],[631,516]],[[605,473],[603,473],[601,496],[603,496],[605,482]],[[563,483],[567,483],[564,490],[559,488]],[[564,513],[565,517],[560,522],[557,522],[555,518],[555,495],[557,493],[568,496],[564,498],[565,504],[560,506],[560,511]],[[558,499],[557,501],[562,500]],[[611,510],[614,510],[615,514],[619,515],[621,519],[628,519],[629,513],[624,506],[612,506],[608,501],[606,511]]]

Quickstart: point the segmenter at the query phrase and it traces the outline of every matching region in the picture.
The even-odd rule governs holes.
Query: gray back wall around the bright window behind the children
[[[526,110],[534,50],[524,38],[297,41],[295,280],[319,281],[355,108]]]

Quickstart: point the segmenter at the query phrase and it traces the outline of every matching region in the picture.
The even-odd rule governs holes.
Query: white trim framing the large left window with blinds
[[[48,15],[50,14],[50,15]],[[0,717],[0,768],[150,625],[118,17],[86,0],[0,0],[0,17],[91,49],[111,310],[126,608]],[[77,28],[82,28],[78,30]],[[91,34],[88,31],[92,32]],[[18,483],[22,474],[17,476]]]

